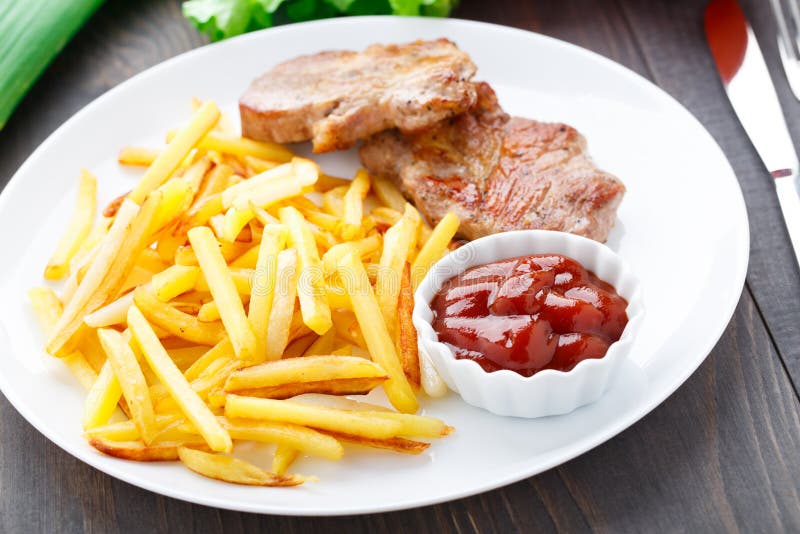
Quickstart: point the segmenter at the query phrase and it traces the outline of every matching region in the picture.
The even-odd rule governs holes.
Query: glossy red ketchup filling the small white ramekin
[[[605,356],[628,323],[627,306],[610,284],[556,254],[473,267],[431,303],[433,328],[456,358],[523,376]]]

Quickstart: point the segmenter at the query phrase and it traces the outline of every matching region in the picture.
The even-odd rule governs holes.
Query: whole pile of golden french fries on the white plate
[[[343,442],[418,454],[449,434],[414,415],[420,390],[443,384],[420,365],[411,310],[458,219],[430,228],[389,182],[327,176],[193,106],[163,149],[120,152],[144,174],[99,218],[82,173],[44,273],[60,292],[29,292],[47,352],[88,391],[89,443],[294,486],[309,480],[287,474],[300,455],[339,460]],[[343,397],[378,387],[396,411]],[[239,441],[274,444],[271,465],[233,457]]]

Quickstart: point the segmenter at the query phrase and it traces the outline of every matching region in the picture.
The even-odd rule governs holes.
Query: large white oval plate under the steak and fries
[[[74,203],[82,166],[102,200],[131,188],[120,147],[160,146],[188,117],[191,96],[231,112],[250,80],[274,63],[330,48],[446,36],[469,52],[478,79],[514,114],[564,121],[628,192],[609,244],[639,276],[647,317],[634,358],[598,402],[537,420],[494,416],[456,395],[423,402],[457,427],[418,457],[352,451],[338,463],[301,459],[319,483],[272,489],[226,485],[177,464],[102,456],[81,437],[84,392],[41,347],[25,291],[40,273]],[[353,152],[321,159],[353,173]],[[0,196],[0,388],[40,432],[94,467],[171,497],[236,510],[335,515],[421,506],[540,473],[603,443],[644,416],[697,368],[733,313],[744,283],[748,226],[719,147],[683,107],[631,71],[533,33],[459,20],[348,18],[258,32],[183,54],[121,84],[58,129]]]

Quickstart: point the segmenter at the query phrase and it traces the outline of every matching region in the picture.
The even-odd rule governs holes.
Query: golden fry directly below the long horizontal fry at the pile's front
[[[277,443],[326,460],[339,460],[344,454],[341,443],[321,432],[292,423],[271,423],[252,419],[220,418],[233,439]]]

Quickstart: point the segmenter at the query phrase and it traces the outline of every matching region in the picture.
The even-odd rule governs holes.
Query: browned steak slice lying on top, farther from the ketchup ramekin
[[[475,65],[447,39],[327,51],[281,63],[239,99],[242,134],[349,148],[389,128],[411,133],[475,104]]]

